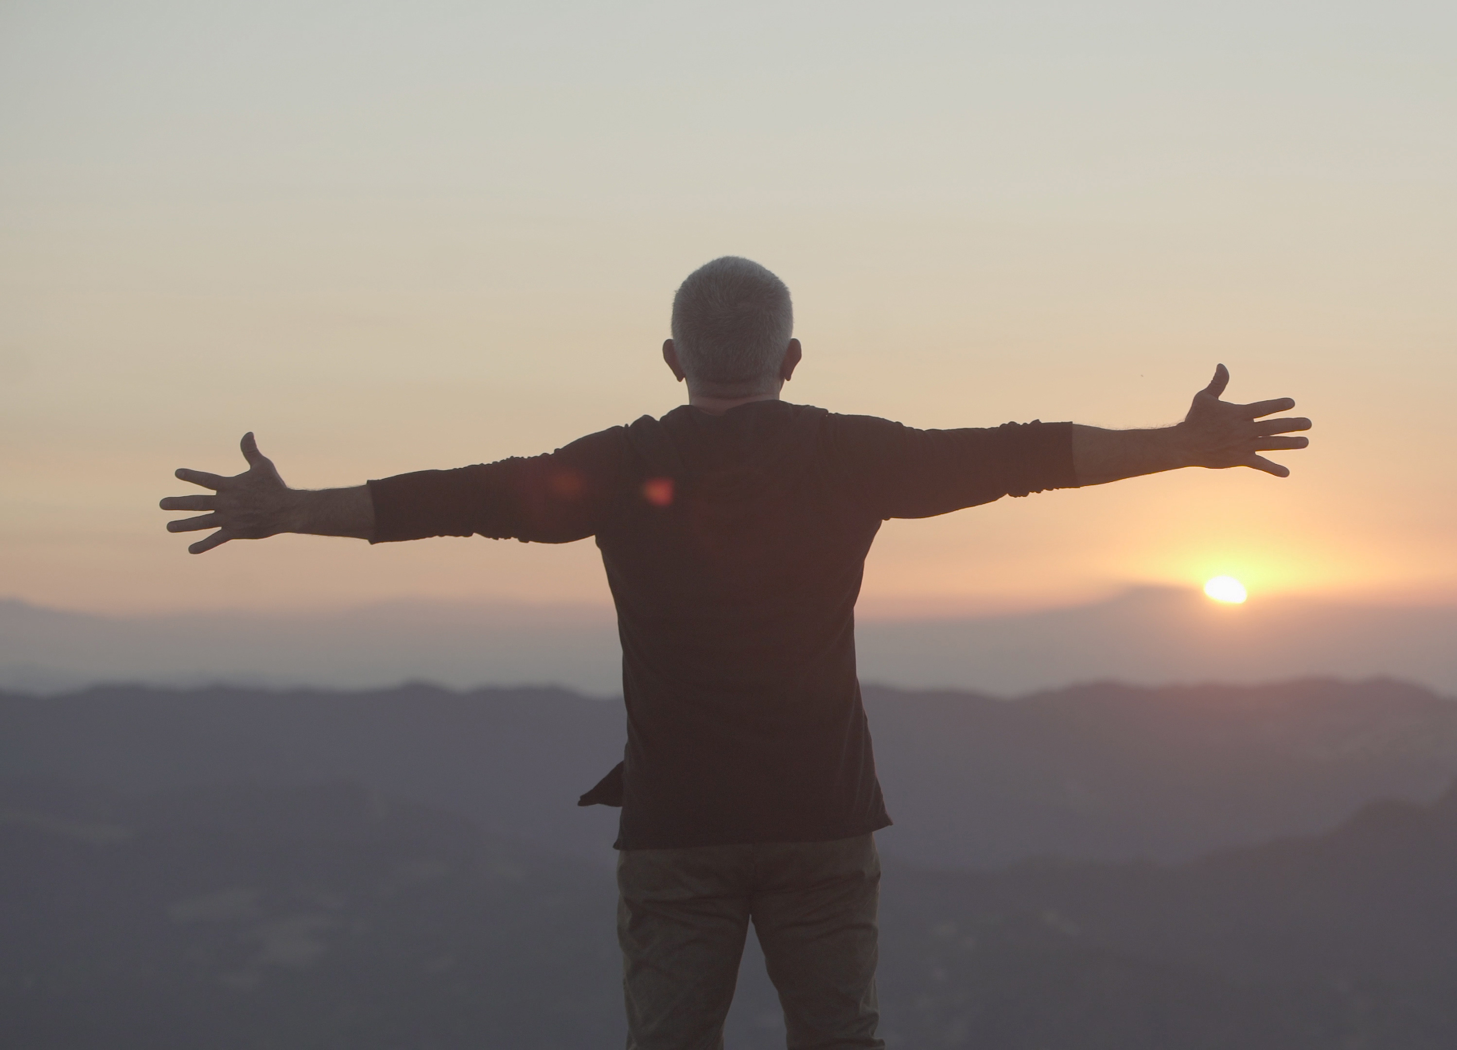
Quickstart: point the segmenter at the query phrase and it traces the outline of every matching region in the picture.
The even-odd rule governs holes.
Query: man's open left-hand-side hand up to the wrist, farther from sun
[[[176,472],[182,481],[210,488],[216,495],[173,495],[160,504],[162,510],[211,511],[168,521],[168,532],[173,533],[217,529],[189,546],[191,553],[200,555],[233,539],[256,540],[283,532],[300,532],[300,497],[307,494],[294,492],[284,485],[272,460],[258,451],[252,433],[243,434],[242,450],[248,469],[232,478],[186,467]]]

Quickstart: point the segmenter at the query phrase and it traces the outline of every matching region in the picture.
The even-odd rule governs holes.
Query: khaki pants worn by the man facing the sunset
[[[790,1050],[884,1047],[873,836],[622,850],[618,890],[628,1050],[723,1047],[750,919]]]

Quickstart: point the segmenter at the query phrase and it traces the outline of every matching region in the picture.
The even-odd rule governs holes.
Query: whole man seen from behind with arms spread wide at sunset
[[[172,532],[201,553],[283,532],[372,543],[594,536],[618,609],[628,743],[581,804],[621,805],[616,848],[628,1046],[723,1046],[747,925],[791,1050],[876,1038],[873,833],[886,827],[855,677],[854,606],[880,523],[1185,466],[1289,472],[1289,399],[1220,400],[1224,366],[1161,430],[1007,424],[924,431],[779,400],[800,363],[788,288],[747,259],[696,269],[663,360],[689,403],[548,456],[288,489],[243,437],[235,478]]]

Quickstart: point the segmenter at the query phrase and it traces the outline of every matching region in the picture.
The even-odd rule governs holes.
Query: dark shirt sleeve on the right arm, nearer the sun
[[[845,476],[881,518],[932,517],[1004,495],[1078,485],[1071,422],[916,430],[874,417],[839,421]]]

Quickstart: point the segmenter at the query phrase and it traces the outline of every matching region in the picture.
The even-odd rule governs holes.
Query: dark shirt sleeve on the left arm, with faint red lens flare
[[[545,456],[456,470],[417,470],[369,482],[372,543],[428,536],[490,536],[571,543],[597,532],[621,488],[622,427],[589,434]]]

